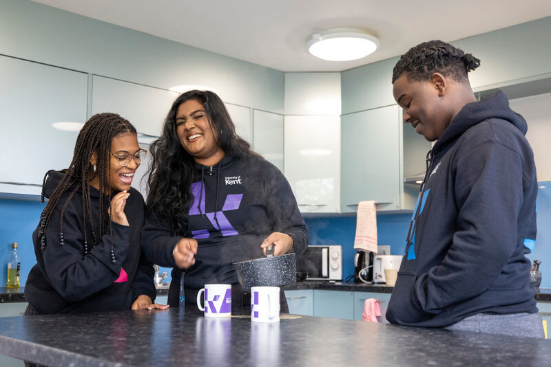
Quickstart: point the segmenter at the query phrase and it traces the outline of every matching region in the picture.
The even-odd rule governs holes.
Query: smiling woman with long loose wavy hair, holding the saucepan
[[[207,283],[231,284],[232,312],[250,313],[232,263],[261,257],[271,243],[275,255],[301,254],[308,243],[289,183],[236,135],[211,91],[179,96],[150,151],[144,252],[174,267],[169,304],[178,307],[184,270],[186,302]]]

